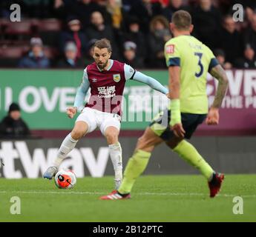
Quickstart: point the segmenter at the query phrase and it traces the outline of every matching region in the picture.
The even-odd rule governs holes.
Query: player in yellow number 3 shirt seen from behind
[[[134,154],[125,167],[124,179],[119,189],[102,196],[102,200],[130,198],[136,178],[145,170],[154,147],[162,142],[200,170],[208,181],[211,198],[220,191],[224,175],[215,172],[185,138],[191,138],[197,126],[205,119],[206,124],[218,124],[218,110],[228,88],[228,79],[209,47],[190,35],[193,25],[188,12],[175,12],[170,27],[174,38],[165,43],[165,59],[171,104],[168,110],[155,117],[139,139]],[[219,81],[209,111],[206,95],[208,72]]]

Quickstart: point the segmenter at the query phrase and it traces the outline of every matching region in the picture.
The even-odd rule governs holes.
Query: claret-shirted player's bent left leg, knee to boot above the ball
[[[82,138],[82,136],[85,136],[87,131],[88,131],[88,124],[85,121],[76,122],[71,133],[69,133],[68,136],[66,136],[65,139],[62,141],[62,145],[59,148],[57,157],[53,162],[53,165],[48,167],[47,170],[45,171],[43,175],[44,178],[51,179],[53,178],[53,176],[56,175],[59,169],[59,165],[66,158],[66,156],[68,156],[68,153],[70,153],[70,151],[73,150],[73,148],[76,146],[76,142],[80,138]]]

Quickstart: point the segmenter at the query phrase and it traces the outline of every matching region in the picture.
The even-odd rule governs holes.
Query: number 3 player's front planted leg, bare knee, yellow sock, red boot
[[[147,127],[143,135],[138,139],[137,147],[133,156],[125,167],[124,178],[118,190],[108,196],[102,196],[102,200],[126,199],[130,198],[131,189],[134,186],[136,178],[145,170],[152,150],[157,144],[163,142],[162,138],[157,136],[151,128]]]

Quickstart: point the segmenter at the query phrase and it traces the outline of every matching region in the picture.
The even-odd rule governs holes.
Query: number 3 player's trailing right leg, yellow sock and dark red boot
[[[210,197],[213,198],[220,191],[221,183],[224,179],[223,174],[215,173],[211,166],[200,156],[196,148],[183,140],[174,136],[169,141],[165,142],[171,150],[174,150],[181,158],[188,161],[189,164],[200,170],[200,172],[207,178]]]

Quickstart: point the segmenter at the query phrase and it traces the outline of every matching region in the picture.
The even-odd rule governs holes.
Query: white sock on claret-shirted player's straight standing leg
[[[119,142],[108,145],[108,147],[114,167],[115,181],[122,181],[122,147]]]

